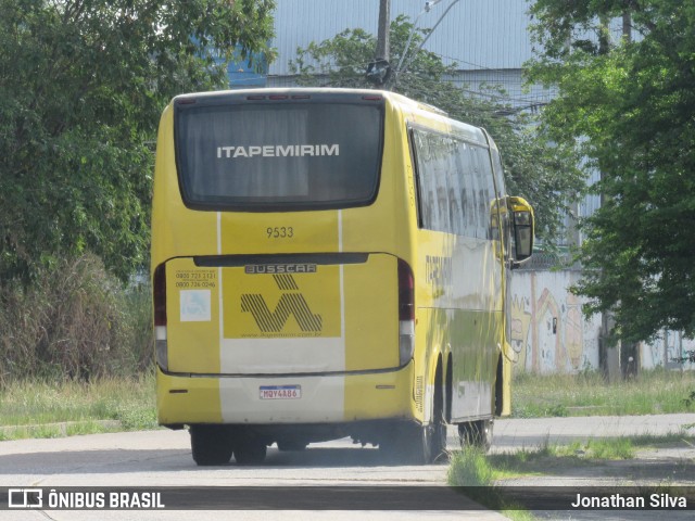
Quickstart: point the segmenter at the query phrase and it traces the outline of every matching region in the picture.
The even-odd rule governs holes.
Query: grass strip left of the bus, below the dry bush
[[[23,381],[0,390],[0,440],[156,428],[154,377]]]

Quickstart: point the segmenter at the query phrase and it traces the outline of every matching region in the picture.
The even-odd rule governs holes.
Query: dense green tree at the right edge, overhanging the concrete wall
[[[544,131],[579,143],[602,175],[593,189],[604,203],[584,224],[576,291],[590,313],[614,314],[624,341],[662,328],[692,338],[695,3],[539,0],[531,12],[543,53],[530,78],[558,89]],[[635,38],[621,36],[626,12]]]

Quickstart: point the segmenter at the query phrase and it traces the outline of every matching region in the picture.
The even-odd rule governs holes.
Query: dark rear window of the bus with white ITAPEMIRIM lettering
[[[177,105],[184,202],[244,212],[367,205],[379,183],[382,119],[382,104]]]

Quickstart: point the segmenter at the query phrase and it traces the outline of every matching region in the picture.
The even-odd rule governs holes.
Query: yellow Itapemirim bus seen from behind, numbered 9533
[[[533,212],[491,137],[375,90],[176,97],[157,138],[159,422],[198,465],[352,436],[429,462],[509,411]]]

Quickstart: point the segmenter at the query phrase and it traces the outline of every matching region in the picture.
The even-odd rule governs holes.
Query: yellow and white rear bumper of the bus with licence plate
[[[384,372],[190,377],[157,368],[162,425],[294,424],[414,419],[413,364]]]

